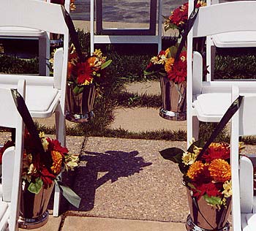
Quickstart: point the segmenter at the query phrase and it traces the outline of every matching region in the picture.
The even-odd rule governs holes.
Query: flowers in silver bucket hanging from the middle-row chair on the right
[[[184,48],[175,60],[178,50],[178,44],[161,50],[157,56],[151,58],[148,67],[146,67],[145,75],[153,75],[158,73],[167,77],[173,83],[184,83],[187,80],[187,50]]]

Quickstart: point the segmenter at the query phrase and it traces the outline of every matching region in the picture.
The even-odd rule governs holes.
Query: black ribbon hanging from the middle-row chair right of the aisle
[[[192,26],[195,23],[195,19],[197,18],[199,8],[197,8],[196,6],[197,6],[197,0],[194,0],[194,9],[192,10],[191,14],[189,15],[185,29],[184,29],[183,33],[181,34],[181,43],[178,45],[178,50],[176,53],[175,61],[178,61],[178,58],[181,54],[181,50],[184,48],[185,42],[187,40],[187,35],[189,34],[189,31],[192,29]]]

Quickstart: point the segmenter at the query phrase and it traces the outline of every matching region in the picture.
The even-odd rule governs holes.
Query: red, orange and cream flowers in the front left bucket
[[[51,186],[53,181],[63,170],[74,170],[78,166],[78,156],[68,154],[68,149],[61,146],[59,140],[45,137],[43,132],[39,133],[44,153],[39,153],[34,145],[34,139],[29,132],[24,135],[24,154],[22,181],[29,183],[29,192],[38,194],[44,187]],[[13,146],[8,140],[0,150],[0,162],[4,150]]]

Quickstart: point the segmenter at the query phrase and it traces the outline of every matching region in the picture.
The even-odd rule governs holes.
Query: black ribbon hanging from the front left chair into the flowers
[[[20,113],[20,116],[23,118],[24,124],[26,125],[26,129],[28,129],[31,138],[34,139],[34,147],[40,154],[45,153],[45,150],[42,147],[41,139],[39,138],[37,128],[34,125],[34,121],[31,118],[28,107],[26,107],[26,103],[23,99],[23,96],[20,95],[17,89],[11,89],[11,92],[17,110]]]

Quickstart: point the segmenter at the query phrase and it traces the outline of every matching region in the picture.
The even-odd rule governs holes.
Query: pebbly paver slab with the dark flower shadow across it
[[[67,147],[72,151],[70,141]],[[182,175],[176,164],[159,154],[170,147],[185,150],[186,142],[107,137],[80,142],[76,143],[82,147],[80,167],[69,180],[81,203],[79,209],[69,205],[71,215],[186,221],[187,192]]]

